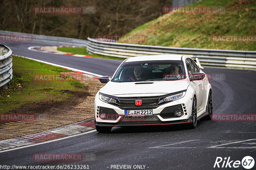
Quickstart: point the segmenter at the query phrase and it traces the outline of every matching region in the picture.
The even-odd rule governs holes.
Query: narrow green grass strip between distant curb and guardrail
[[[66,53],[88,55],[88,56],[92,56],[92,57],[105,58],[105,59],[116,59],[116,60],[124,60],[125,59],[125,58],[119,58],[119,57],[89,54],[86,50],[86,47],[59,47],[59,48],[57,48],[57,50],[66,52]]]

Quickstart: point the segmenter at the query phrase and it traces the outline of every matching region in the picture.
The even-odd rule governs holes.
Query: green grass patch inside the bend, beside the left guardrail
[[[34,60],[12,56],[13,78],[9,89],[0,90],[0,113],[17,109],[33,102],[60,102],[69,100],[74,94],[70,91],[86,92],[84,84],[68,77],[63,81],[35,81],[35,74],[61,75],[69,70],[40,63]],[[21,86],[21,87],[19,87]]]

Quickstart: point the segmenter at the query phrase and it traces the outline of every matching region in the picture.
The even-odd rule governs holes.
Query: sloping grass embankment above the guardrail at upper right
[[[213,35],[255,35],[255,0],[207,0],[188,6],[224,6],[226,12],[220,14],[168,13],[137,27],[127,35],[149,37],[144,42],[133,42],[134,44],[256,50],[256,42],[213,42],[211,39]]]

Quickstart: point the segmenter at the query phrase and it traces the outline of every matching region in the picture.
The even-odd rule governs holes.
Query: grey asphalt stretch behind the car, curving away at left
[[[113,75],[116,67],[122,60],[105,60],[101,58],[74,57],[68,55],[58,55],[50,53],[41,53],[28,50],[30,46],[53,46],[52,44],[32,43],[32,42],[6,42],[6,46],[12,49],[13,54],[25,57],[43,60],[62,66],[72,67],[96,74]]]

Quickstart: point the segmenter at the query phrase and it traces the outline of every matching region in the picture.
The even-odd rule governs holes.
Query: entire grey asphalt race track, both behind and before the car
[[[6,45],[13,50],[13,54],[101,75],[112,76],[121,63],[121,60],[80,58],[28,50],[29,46],[47,44],[19,42]],[[255,114],[256,71],[205,68],[204,72],[225,77],[210,81],[213,114]],[[255,130],[255,121],[199,120],[197,128],[193,130],[182,125],[115,127],[110,134],[92,131],[71,138],[2,152],[0,164],[88,165],[89,169],[114,169],[113,165],[132,165],[132,169],[134,165],[145,165],[145,169],[153,170],[223,169],[213,168],[217,157],[230,157],[234,162],[251,156],[256,161]],[[35,153],[82,153],[84,159],[35,161]],[[92,159],[86,159],[90,156]],[[223,161],[220,166],[222,163]],[[255,165],[252,169],[255,169]]]

